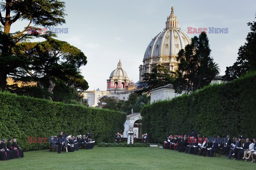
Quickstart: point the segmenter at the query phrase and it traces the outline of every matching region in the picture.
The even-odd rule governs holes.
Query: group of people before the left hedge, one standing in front
[[[93,149],[94,147],[94,142],[88,135],[83,135],[83,137],[82,135],[77,135],[77,138],[73,135],[69,135],[62,139],[52,136],[49,140],[51,147],[56,148],[56,151],[58,151],[59,142],[63,143],[63,145],[60,145],[61,150],[67,147],[69,152],[74,152],[75,150],[79,150],[79,148]]]

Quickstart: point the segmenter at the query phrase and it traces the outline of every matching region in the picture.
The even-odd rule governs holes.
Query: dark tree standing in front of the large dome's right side
[[[210,84],[215,75],[219,74],[219,66],[213,62],[210,54],[209,39],[205,32],[192,38],[192,43],[180,50],[177,57],[178,78],[174,82],[177,92],[196,91]]]

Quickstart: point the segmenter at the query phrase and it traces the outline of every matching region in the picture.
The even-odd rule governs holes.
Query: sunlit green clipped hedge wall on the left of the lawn
[[[97,142],[113,142],[116,132],[124,130],[125,120],[121,112],[0,92],[0,138],[17,137],[25,150],[49,147],[49,143],[28,143],[27,137],[48,138],[60,130],[74,135],[92,132]]]

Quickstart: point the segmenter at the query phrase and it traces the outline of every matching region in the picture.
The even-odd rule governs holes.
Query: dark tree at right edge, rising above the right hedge
[[[256,17],[255,17],[256,18]],[[247,23],[251,32],[246,37],[247,43],[238,49],[238,57],[233,66],[227,67],[225,78],[234,80],[246,72],[255,71],[256,68],[256,22]]]

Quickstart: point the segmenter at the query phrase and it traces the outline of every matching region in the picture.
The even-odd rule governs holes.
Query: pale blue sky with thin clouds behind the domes
[[[68,28],[58,34],[59,40],[79,48],[88,63],[81,72],[89,83],[88,90],[107,89],[107,79],[119,60],[129,78],[139,80],[139,65],[150,43],[165,27],[171,13],[178,16],[179,27],[188,33],[193,28],[228,28],[228,33],[207,33],[211,56],[219,64],[221,75],[236,61],[238,48],[246,42],[255,21],[256,1],[167,1],[167,0],[63,0],[66,2],[66,23],[57,28]],[[28,21],[27,21],[28,22]],[[26,27],[26,21],[13,25],[13,30]]]

